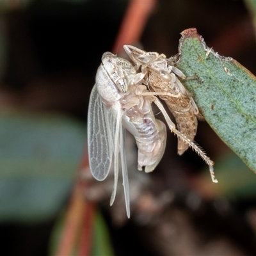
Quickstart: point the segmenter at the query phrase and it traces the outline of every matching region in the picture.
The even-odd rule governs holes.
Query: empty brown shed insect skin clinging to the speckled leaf
[[[204,118],[191,93],[186,90],[177,76],[182,79],[195,79],[195,76],[186,77],[164,54],[146,52],[132,45],[124,45],[124,49],[134,62],[135,69],[141,68],[141,73],[137,76],[144,79],[147,84],[150,90],[147,95],[159,95],[166,102],[177,122],[177,128],[186,138],[185,140],[178,138],[178,154],[182,155],[189,146],[192,147],[209,165],[212,181],[218,182],[214,177],[213,161],[195,143],[191,145],[196,135],[197,120],[204,120]]]

